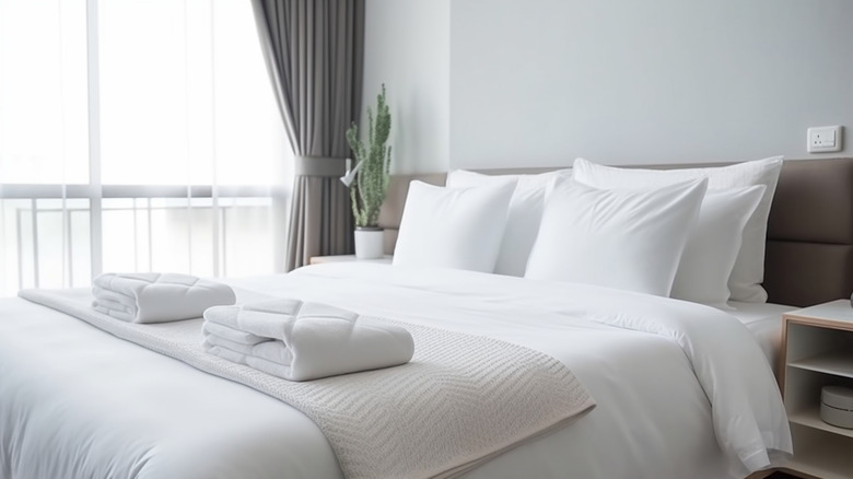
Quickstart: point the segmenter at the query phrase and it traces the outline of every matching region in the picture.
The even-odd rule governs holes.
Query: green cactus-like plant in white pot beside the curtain
[[[379,208],[385,201],[390,177],[390,151],[385,143],[390,132],[390,113],[385,103],[385,84],[376,96],[376,117],[367,107],[367,144],[359,139],[355,122],[347,130],[347,142],[355,156],[354,167],[344,176],[351,184],[350,199],[355,217],[355,257],[382,258],[384,233],[379,227]],[[354,182],[352,175],[355,175]],[[349,185],[348,185],[349,186]]]

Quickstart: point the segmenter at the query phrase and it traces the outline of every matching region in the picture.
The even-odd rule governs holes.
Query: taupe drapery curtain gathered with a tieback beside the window
[[[264,56],[295,153],[287,270],[352,253],[338,177],[361,107],[364,0],[253,0]]]

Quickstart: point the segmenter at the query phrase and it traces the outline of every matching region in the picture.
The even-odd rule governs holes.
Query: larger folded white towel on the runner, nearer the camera
[[[414,352],[399,326],[299,300],[211,307],[202,334],[211,354],[290,381],[395,366]]]

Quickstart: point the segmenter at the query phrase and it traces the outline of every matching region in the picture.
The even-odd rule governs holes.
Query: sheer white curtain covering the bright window
[[[283,269],[292,153],[245,0],[0,0],[0,294]]]

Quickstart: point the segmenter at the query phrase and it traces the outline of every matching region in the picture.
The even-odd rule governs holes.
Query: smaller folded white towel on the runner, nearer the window
[[[230,287],[188,274],[106,273],[92,282],[95,311],[129,323],[197,318],[208,307],[236,301]]]

